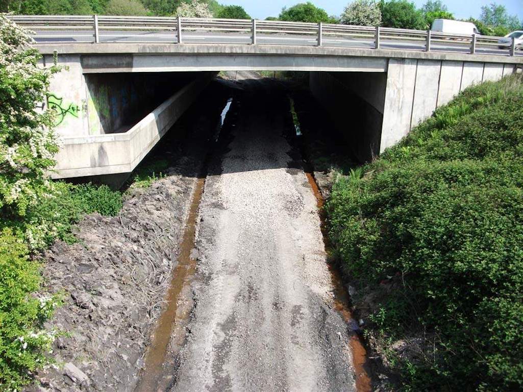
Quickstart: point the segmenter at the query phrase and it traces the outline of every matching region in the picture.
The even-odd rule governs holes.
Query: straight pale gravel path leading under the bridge
[[[355,390],[316,200],[283,137],[289,103],[276,83],[243,82],[232,141],[211,162],[173,391]]]

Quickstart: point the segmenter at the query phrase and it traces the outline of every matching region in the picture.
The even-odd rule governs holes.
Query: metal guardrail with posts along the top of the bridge
[[[499,43],[501,37],[324,23],[98,15],[10,15],[9,18],[32,30],[39,43],[274,43],[471,54],[488,51],[510,56],[517,49],[514,38],[511,43]]]

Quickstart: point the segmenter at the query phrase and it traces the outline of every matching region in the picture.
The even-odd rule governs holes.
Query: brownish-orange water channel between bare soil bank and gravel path
[[[163,375],[163,364],[167,354],[169,340],[176,321],[178,298],[181,291],[190,283],[190,278],[196,272],[196,259],[191,257],[196,237],[196,220],[198,208],[203,194],[205,178],[197,178],[192,194],[184,236],[180,244],[178,264],[172,271],[169,289],[167,291],[167,306],[163,310],[156,324],[153,339],[145,355],[145,366],[138,383],[136,392],[152,392],[158,385],[158,380]]]

